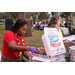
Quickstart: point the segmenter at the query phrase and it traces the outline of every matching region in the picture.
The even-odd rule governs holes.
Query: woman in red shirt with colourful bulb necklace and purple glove
[[[12,29],[5,33],[1,62],[22,62],[22,54],[29,59],[29,50],[39,53],[36,47],[26,46],[23,38],[26,30],[27,22],[24,19],[19,19]]]

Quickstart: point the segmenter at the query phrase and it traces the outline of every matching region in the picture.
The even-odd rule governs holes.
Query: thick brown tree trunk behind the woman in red
[[[31,12],[10,12],[15,20],[17,19],[28,19],[31,17]],[[31,21],[27,21],[27,31],[24,34],[25,37],[31,37]]]

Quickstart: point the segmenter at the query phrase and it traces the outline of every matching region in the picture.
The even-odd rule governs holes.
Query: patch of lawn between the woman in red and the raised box
[[[40,47],[43,46],[43,42],[41,39],[41,36],[43,34],[43,31],[32,31],[32,37],[24,37],[26,41],[26,45],[34,46],[34,47]],[[44,46],[43,46],[44,47]]]

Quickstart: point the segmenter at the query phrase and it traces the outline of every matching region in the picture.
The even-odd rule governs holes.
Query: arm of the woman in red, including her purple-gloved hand
[[[32,47],[32,46],[19,46],[16,45],[15,41],[10,41],[7,43],[8,47],[10,50],[14,51],[14,52],[24,52],[24,51],[31,51],[33,53],[38,53],[38,49],[36,47]]]

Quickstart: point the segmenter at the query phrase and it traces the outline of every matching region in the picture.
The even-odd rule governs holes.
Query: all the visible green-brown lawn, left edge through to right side
[[[7,32],[7,30],[5,30],[5,25],[0,25],[0,50],[1,51],[3,49],[3,37],[4,37],[5,32]],[[41,38],[43,33],[44,33],[44,31],[39,31],[39,30],[32,31],[32,37],[24,37],[24,39],[26,41],[26,45],[34,46],[34,47],[44,47],[42,38]],[[66,37],[66,36],[69,36],[69,35],[65,35],[64,37]],[[66,51],[68,51],[68,47],[70,47],[74,44],[65,43],[64,45],[66,47]]]

